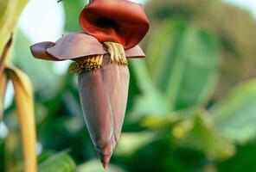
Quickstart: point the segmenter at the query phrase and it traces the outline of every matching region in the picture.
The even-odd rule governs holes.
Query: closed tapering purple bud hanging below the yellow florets
[[[101,68],[78,77],[86,126],[105,167],[123,126],[130,79],[127,65],[108,61],[104,58]]]

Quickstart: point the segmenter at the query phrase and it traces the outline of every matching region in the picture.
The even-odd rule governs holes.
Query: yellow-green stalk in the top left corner
[[[27,0],[0,0],[0,54],[15,33],[16,22]]]

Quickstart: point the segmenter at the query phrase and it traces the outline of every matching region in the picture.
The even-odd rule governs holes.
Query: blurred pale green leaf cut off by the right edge
[[[256,137],[256,80],[241,83],[210,109],[217,130],[226,138],[246,142]]]

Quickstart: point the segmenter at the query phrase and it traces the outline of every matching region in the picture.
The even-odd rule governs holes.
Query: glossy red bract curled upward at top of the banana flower
[[[99,42],[116,42],[127,49],[144,38],[149,21],[141,4],[126,0],[94,0],[80,13],[80,27]]]

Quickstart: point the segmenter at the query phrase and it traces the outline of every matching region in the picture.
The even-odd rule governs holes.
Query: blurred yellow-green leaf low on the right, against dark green
[[[195,115],[195,118],[177,124],[172,132],[178,144],[202,151],[210,158],[223,159],[234,155],[234,145],[215,131],[208,114]]]

